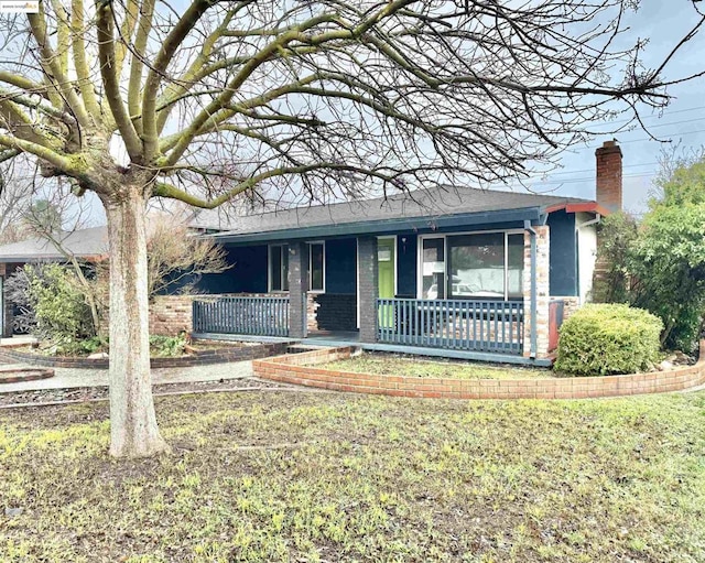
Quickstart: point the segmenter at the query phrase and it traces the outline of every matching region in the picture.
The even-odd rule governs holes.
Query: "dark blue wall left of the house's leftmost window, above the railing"
[[[223,273],[206,274],[198,283],[205,293],[267,293],[267,245],[226,247],[232,268]]]

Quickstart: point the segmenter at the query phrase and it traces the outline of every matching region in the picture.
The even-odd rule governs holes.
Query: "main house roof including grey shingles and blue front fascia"
[[[595,203],[562,197],[470,187],[437,186],[375,199],[296,207],[239,217],[230,230],[215,235],[224,241],[273,240],[285,236],[311,237],[381,232],[393,228],[434,228],[466,218],[471,223],[534,219],[541,213],[577,206],[588,210]],[[570,209],[567,209],[570,212]],[[531,213],[533,212],[533,213]],[[358,228],[359,227],[359,228]]]

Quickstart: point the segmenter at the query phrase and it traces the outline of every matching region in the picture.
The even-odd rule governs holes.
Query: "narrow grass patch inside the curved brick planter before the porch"
[[[337,371],[355,371],[380,376],[408,376],[452,379],[545,379],[554,377],[549,369],[513,366],[487,366],[474,361],[421,360],[417,356],[362,354],[316,367]]]

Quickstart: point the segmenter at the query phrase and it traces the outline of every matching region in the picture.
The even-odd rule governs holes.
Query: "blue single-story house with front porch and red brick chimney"
[[[234,268],[202,289],[231,296],[197,300],[194,332],[545,358],[562,307],[589,294],[596,225],[621,206],[619,147],[596,158],[596,201],[438,186],[242,217],[212,235]]]

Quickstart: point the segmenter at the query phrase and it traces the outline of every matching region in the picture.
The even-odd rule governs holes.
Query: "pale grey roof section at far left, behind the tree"
[[[108,253],[108,228],[93,227],[57,236],[61,245],[80,258],[106,256]],[[33,262],[39,260],[64,260],[56,247],[42,237],[0,246],[0,262]]]

